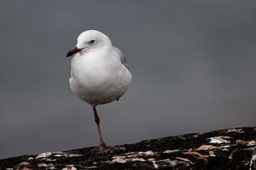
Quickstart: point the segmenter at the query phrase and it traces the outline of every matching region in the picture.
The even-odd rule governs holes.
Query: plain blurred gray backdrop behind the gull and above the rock
[[[77,36],[122,49],[132,85],[99,106],[110,145],[256,125],[255,1],[1,1],[0,158],[99,144],[69,87]]]

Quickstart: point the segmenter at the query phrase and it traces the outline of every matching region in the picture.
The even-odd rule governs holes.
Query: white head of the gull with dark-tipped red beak
[[[102,48],[102,46],[112,46],[108,36],[96,30],[84,31],[78,36],[77,45],[67,53],[67,57],[78,52],[89,52]]]

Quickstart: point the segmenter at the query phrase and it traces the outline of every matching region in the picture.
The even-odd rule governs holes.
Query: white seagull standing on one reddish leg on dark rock
[[[131,84],[132,75],[124,53],[112,46],[111,40],[102,32],[89,30],[78,36],[77,45],[67,53],[67,57],[70,56],[70,88],[92,106],[99,132],[100,145],[93,150],[111,149],[113,146],[103,141],[96,106],[118,101]]]

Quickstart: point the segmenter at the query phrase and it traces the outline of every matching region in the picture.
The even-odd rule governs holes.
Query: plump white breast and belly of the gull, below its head
[[[70,87],[92,105],[106,104],[121,97],[131,84],[131,73],[111,47],[90,53],[76,53],[71,62]]]

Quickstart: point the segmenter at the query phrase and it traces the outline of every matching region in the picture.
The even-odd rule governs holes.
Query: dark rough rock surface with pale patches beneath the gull
[[[95,152],[82,148],[0,160],[0,169],[256,169],[256,127],[184,134]]]

